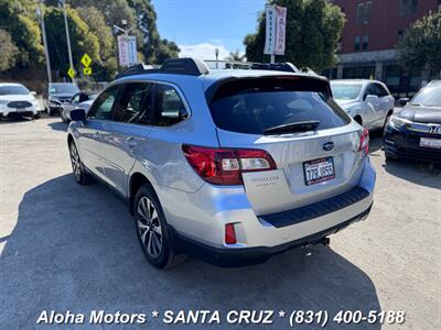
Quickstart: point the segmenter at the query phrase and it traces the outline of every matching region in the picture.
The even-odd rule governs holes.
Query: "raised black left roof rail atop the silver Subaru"
[[[206,64],[197,58],[168,58],[162,66],[137,64],[120,72],[116,79],[142,74],[175,74],[201,76],[208,74]]]

